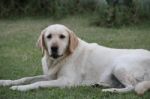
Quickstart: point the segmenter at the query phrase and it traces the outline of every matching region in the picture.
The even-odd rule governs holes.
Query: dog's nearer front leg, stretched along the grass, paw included
[[[66,80],[64,78],[60,78],[57,80],[51,80],[51,81],[40,81],[33,84],[28,85],[19,85],[19,86],[12,86],[10,89],[12,90],[18,90],[18,91],[28,91],[38,88],[48,88],[48,87],[65,87],[70,86],[71,83],[69,83],[69,80]]]

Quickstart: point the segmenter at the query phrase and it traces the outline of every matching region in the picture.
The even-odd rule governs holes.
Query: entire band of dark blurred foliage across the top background
[[[88,13],[92,24],[122,26],[150,19],[150,0],[1,0],[0,18]]]

